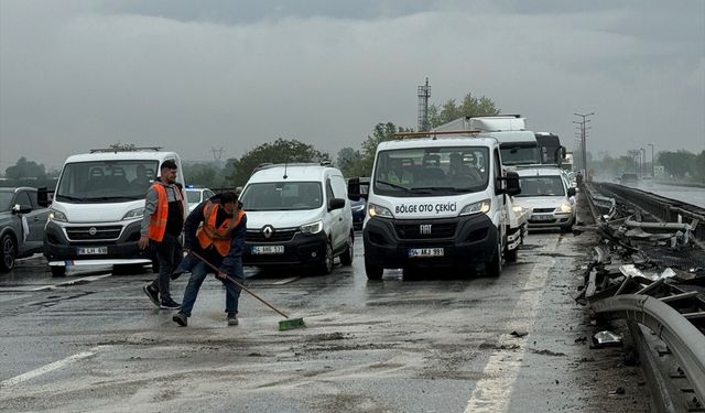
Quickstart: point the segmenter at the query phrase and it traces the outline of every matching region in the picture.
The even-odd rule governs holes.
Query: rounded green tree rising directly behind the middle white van
[[[262,163],[321,162],[328,159],[327,153],[316,150],[313,145],[280,138],[273,143],[261,144],[242,155],[237,163],[232,181],[226,183],[226,186],[245,185],[252,171]]]

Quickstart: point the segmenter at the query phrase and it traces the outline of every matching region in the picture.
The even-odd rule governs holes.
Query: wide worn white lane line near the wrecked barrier
[[[549,251],[554,251],[558,244],[558,238],[553,239],[546,246]],[[527,279],[527,284],[521,289],[522,293],[517,301],[517,306],[511,315],[511,322],[507,324],[507,332],[530,332],[536,319],[536,304],[544,290],[549,270],[555,264],[555,259],[542,260],[536,263]],[[516,350],[497,350],[490,357],[482,370],[482,378],[477,382],[470,400],[467,402],[465,413],[497,413],[506,412],[510,402],[511,391],[519,376],[519,369],[527,350],[529,336],[522,338],[503,334],[499,338],[498,347]]]

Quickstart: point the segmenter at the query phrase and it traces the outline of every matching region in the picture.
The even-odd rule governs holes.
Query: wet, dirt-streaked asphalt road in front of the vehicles
[[[250,287],[306,320],[289,332],[245,293],[228,327],[213,279],[183,328],[142,293],[147,271],[53,279],[43,258],[23,260],[0,275],[0,411],[649,411],[639,368],[589,348],[600,326],[571,298],[593,242],[532,233],[499,279],[371,282],[359,236],[354,265],[326,276],[248,269]]]

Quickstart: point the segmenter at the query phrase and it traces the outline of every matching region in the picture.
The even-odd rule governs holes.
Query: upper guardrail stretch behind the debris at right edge
[[[699,224],[693,230],[693,236],[698,241],[705,242],[704,208],[618,184],[596,182],[592,186],[604,195],[609,194],[619,198],[620,203],[639,208],[665,222],[677,222],[679,220],[691,222],[697,219]]]

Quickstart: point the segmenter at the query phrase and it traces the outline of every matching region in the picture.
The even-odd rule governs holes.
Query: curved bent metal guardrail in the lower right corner
[[[596,313],[608,313],[649,327],[671,349],[685,371],[698,400],[705,400],[705,335],[683,314],[659,298],[625,294],[590,304]]]

